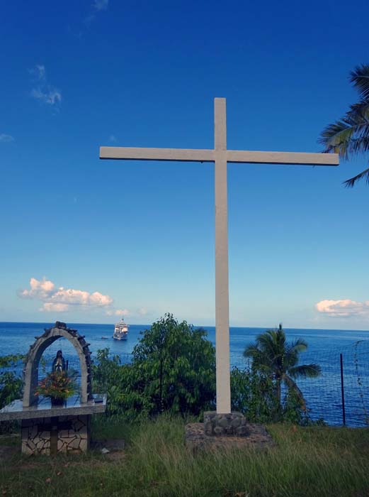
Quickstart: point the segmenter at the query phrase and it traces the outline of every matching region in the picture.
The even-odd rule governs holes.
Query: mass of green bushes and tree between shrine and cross
[[[215,398],[215,349],[203,329],[167,314],[152,324],[132,352],[132,364],[98,351],[94,388],[108,393],[108,413],[126,419],[198,415]]]

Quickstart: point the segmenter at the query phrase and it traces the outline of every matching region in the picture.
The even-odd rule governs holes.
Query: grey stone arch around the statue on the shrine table
[[[57,321],[52,328],[45,329],[45,333],[36,337],[34,344],[28,351],[24,369],[23,407],[28,408],[37,402],[35,390],[38,386],[38,366],[45,349],[55,340],[64,337],[76,349],[81,364],[81,403],[92,399],[91,389],[91,352],[89,344],[76,329],[67,328],[67,324]]]

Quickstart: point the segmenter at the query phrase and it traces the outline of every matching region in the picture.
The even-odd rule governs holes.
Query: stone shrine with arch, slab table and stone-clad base
[[[38,400],[38,368],[43,352],[64,337],[72,343],[81,366],[81,393],[62,405]],[[89,449],[91,415],[106,410],[106,395],[91,392],[91,352],[76,329],[57,321],[54,327],[36,337],[25,359],[23,400],[14,400],[0,410],[0,421],[21,420],[23,454],[78,454]]]

